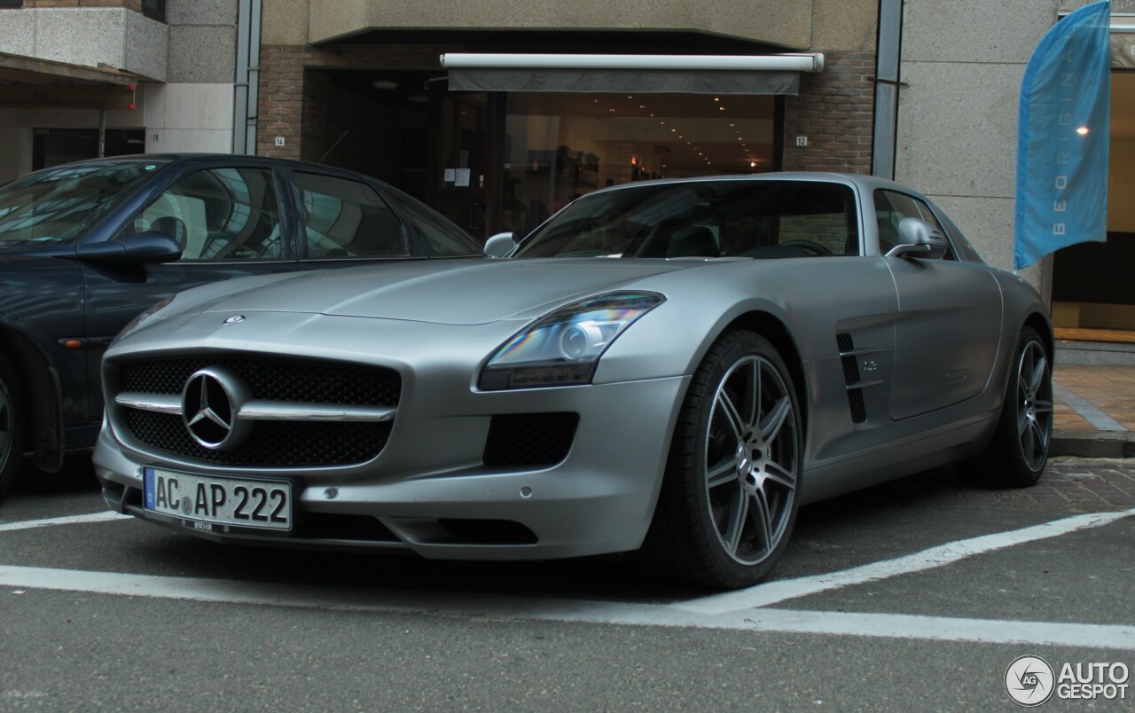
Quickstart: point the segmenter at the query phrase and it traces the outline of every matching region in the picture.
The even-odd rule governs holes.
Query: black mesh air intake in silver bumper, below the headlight
[[[493,468],[555,465],[568,458],[578,413],[510,413],[494,416],[484,461]]]

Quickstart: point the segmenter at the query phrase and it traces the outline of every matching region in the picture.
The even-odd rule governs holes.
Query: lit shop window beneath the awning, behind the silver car
[[[510,93],[503,229],[527,234],[599,187],[772,170],[774,114],[773,97]]]

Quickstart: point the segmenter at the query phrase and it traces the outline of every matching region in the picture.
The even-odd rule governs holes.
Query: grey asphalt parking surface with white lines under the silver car
[[[802,509],[720,595],[620,557],[215,545],[107,514],[79,461],[0,504],[0,710],[1016,710],[1019,656],[1135,668],[1132,515],[1133,460],[943,468]]]

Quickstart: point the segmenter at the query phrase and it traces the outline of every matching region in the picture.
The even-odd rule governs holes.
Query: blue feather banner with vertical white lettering
[[[1033,52],[1020,84],[1014,267],[1060,248],[1103,242],[1108,225],[1111,6],[1065,17]]]

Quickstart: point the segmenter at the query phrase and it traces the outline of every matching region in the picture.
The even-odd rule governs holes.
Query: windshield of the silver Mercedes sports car
[[[515,258],[857,255],[850,186],[808,181],[690,181],[578,199]]]

